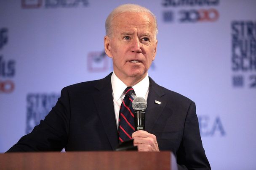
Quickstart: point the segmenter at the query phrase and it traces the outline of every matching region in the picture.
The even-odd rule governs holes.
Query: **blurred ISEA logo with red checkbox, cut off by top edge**
[[[76,8],[88,4],[88,0],[21,0],[22,8]]]

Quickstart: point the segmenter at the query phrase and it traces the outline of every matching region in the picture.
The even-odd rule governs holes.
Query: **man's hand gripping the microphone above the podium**
[[[132,134],[133,145],[138,147],[138,151],[159,152],[157,137],[147,131],[136,131]]]

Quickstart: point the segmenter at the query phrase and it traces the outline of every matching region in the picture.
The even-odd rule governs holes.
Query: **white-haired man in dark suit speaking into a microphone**
[[[154,14],[139,5],[121,5],[109,14],[106,33],[105,52],[113,60],[114,72],[62,89],[45,120],[8,152],[115,150],[124,138],[132,138],[139,151],[172,151],[179,169],[210,169],[195,103],[148,76],[157,50]],[[127,88],[134,93],[126,94]],[[133,115],[123,102],[126,96],[128,101],[138,96],[147,99],[146,131],[130,133],[121,126],[124,119],[133,128],[123,114]]]

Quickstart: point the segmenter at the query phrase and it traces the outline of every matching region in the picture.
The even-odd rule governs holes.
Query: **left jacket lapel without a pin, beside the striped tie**
[[[97,92],[93,98],[109,143],[112,149],[115,150],[118,145],[118,132],[112,97],[111,74],[99,80],[99,83],[95,86]]]

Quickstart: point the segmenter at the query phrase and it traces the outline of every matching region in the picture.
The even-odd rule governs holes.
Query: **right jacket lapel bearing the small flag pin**
[[[163,99],[164,95],[163,89],[149,77],[149,95],[147,97],[147,109],[145,110],[146,131],[149,133],[166,106],[166,101]],[[157,104],[155,101],[161,103]]]

